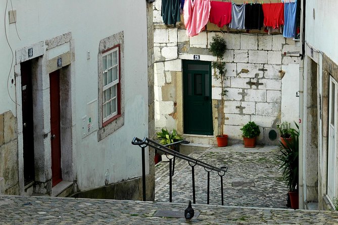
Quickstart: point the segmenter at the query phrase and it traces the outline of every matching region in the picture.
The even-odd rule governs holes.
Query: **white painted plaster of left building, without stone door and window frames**
[[[131,140],[134,136],[148,136],[146,1],[12,0],[12,3],[17,11],[16,25],[21,38],[17,37],[15,24],[7,22],[8,38],[14,53],[16,49],[36,42],[72,33],[75,45],[75,63],[72,65],[75,74],[72,76],[75,82],[71,89],[72,98],[75,98],[73,141],[76,143],[73,151],[76,153],[74,166],[77,168],[79,188],[104,185],[107,169],[110,171],[110,183],[140,176],[140,148],[131,145]],[[5,7],[6,1],[1,1],[0,8]],[[0,12],[2,18],[4,12]],[[0,114],[7,110],[15,114],[16,104],[9,99],[6,85],[11,51],[6,42],[4,23],[0,23],[0,29],[0,49],[3,49],[0,53]],[[124,31],[125,46],[124,126],[100,142],[96,132],[82,139],[81,118],[86,115],[87,103],[98,98],[99,42],[120,31]],[[87,60],[87,51],[90,51],[90,60]],[[14,78],[13,68],[11,78]],[[15,99],[15,86],[9,87],[10,95]],[[98,127],[98,121],[95,123]]]

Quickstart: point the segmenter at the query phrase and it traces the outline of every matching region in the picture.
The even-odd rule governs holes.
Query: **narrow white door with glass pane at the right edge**
[[[327,195],[332,200],[335,197],[336,177],[336,111],[337,82],[330,76],[329,108],[328,108],[328,157],[327,157]]]

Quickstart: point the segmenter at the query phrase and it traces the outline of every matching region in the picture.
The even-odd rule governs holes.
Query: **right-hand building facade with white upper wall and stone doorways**
[[[304,167],[300,179],[304,183],[304,195],[300,202],[304,202],[304,208],[308,203],[318,202],[319,209],[329,209],[333,206],[333,198],[338,196],[335,179],[338,174],[338,142],[336,138],[332,139],[337,134],[337,120],[333,123],[333,133],[330,131],[332,121],[329,120],[332,113],[330,102],[338,102],[336,98],[330,99],[330,83],[338,81],[338,28],[333,24],[338,20],[338,3],[334,0],[307,0],[305,3],[305,8],[302,3],[306,14],[303,21],[305,57],[300,74],[300,78],[304,78],[300,83],[300,90],[304,87],[300,104],[304,122],[301,127]],[[334,118],[337,118],[336,114]]]

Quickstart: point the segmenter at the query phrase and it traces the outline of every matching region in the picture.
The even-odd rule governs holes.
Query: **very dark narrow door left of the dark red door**
[[[23,173],[25,185],[34,181],[34,131],[32,100],[32,66],[30,61],[21,63]]]

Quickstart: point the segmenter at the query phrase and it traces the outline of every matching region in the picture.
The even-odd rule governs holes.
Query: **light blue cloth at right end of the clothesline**
[[[283,37],[295,37],[297,3],[284,3],[284,31]]]

